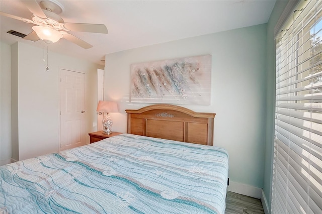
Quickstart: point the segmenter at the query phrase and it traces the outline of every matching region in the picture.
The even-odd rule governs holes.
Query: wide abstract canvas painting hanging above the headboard
[[[130,101],[210,104],[211,55],[131,65]]]

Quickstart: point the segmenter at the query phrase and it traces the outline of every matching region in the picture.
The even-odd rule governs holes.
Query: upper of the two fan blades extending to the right
[[[81,31],[101,34],[108,33],[106,26],[103,24],[65,23],[64,27],[69,31]]]

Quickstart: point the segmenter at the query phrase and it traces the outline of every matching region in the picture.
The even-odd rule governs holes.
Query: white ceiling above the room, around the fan
[[[40,1],[37,0],[39,3]],[[94,47],[83,49],[65,39],[49,45],[49,50],[102,64],[105,54],[267,23],[275,0],[225,1],[74,1],[58,2],[59,16],[68,23],[105,24],[109,33],[71,32]],[[31,12],[17,0],[0,0],[0,11],[31,19]],[[1,41],[16,41],[43,48],[8,34],[15,30],[29,34],[33,24],[0,16]]]

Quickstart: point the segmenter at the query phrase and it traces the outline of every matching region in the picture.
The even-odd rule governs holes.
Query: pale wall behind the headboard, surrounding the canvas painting
[[[126,132],[133,63],[212,55],[211,104],[182,105],[216,113],[214,145],[229,153],[230,181],[263,187],[265,149],[266,24],[151,45],[106,55],[105,99],[117,100],[113,130]]]

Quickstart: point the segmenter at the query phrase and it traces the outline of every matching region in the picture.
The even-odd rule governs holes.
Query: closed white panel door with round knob
[[[85,145],[85,74],[60,70],[60,150]]]

